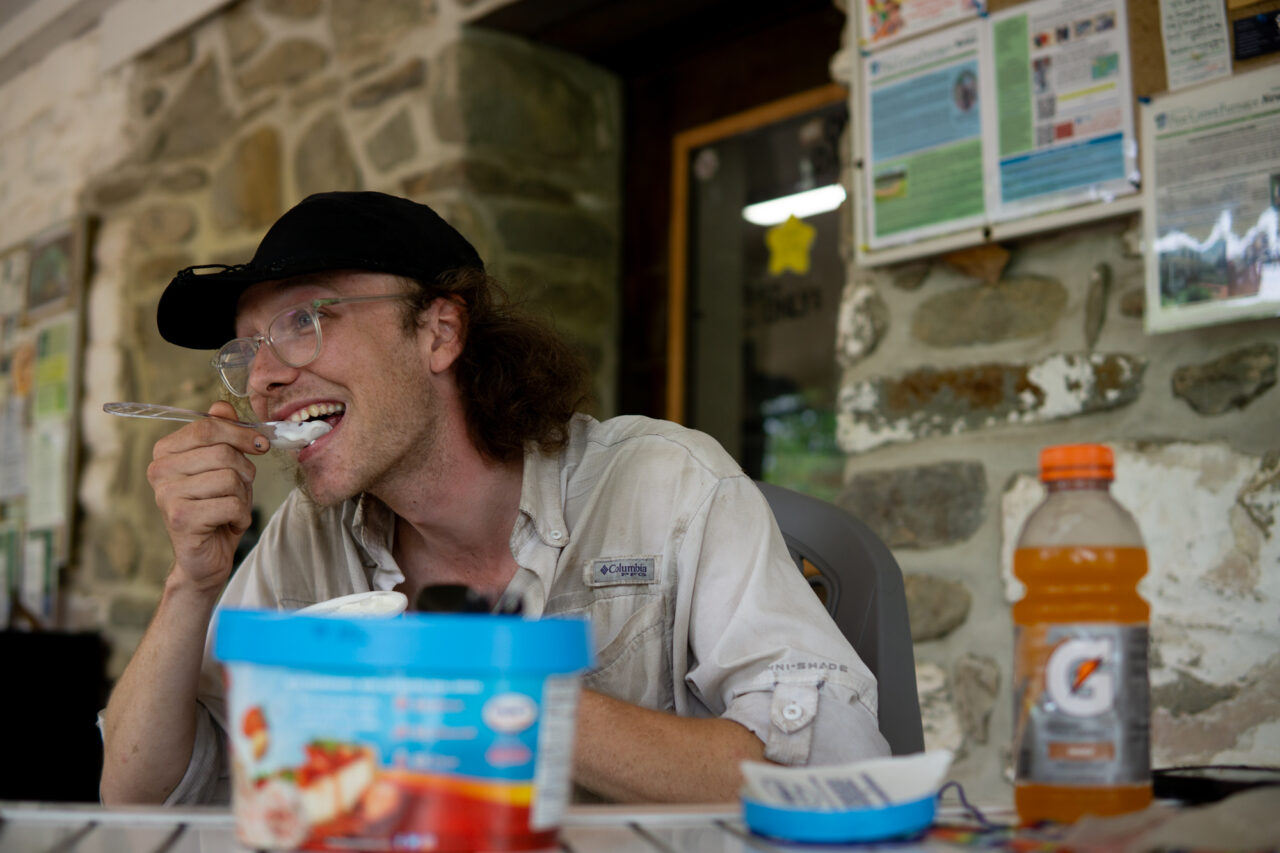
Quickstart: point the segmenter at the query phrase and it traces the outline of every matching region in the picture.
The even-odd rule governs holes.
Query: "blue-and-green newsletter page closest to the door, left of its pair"
[[[867,242],[982,224],[984,31],[950,27],[863,60]]]

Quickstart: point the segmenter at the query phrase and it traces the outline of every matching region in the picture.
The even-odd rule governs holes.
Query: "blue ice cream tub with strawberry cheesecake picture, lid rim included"
[[[554,847],[586,620],[225,610],[232,808],[266,849]]]

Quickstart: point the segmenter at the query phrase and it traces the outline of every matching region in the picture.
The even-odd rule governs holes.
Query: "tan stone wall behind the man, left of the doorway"
[[[493,5],[493,4],[489,4]],[[581,348],[595,412],[617,370],[617,81],[576,58],[477,29],[477,4],[244,0],[131,68],[132,146],[83,205],[101,222],[90,298],[82,549],[70,610],[108,626],[118,674],[155,607],[172,552],[145,471],[172,424],[105,419],[108,400],[207,407],[209,353],[155,329],[188,264],[248,260],[298,199],[380,190],[425,201],[513,296]],[[265,519],[292,487],[259,465]]]

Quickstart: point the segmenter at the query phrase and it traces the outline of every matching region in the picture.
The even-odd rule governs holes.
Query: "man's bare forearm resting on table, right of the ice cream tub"
[[[739,763],[764,760],[749,729],[677,717],[582,690],[573,781],[617,802],[727,803],[742,785]]]

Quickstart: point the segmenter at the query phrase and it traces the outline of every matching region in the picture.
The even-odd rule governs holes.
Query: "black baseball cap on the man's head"
[[[236,337],[236,305],[259,282],[357,269],[433,282],[453,269],[484,269],[453,225],[424,204],[383,192],[319,192],[275,220],[253,260],[188,266],[160,295],[160,336],[192,350]]]

